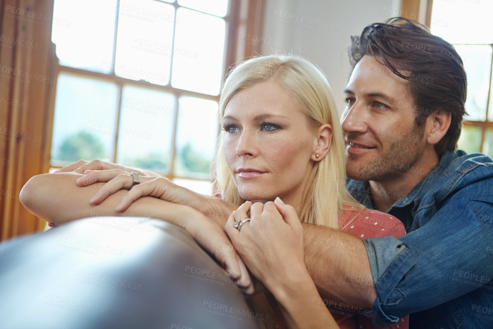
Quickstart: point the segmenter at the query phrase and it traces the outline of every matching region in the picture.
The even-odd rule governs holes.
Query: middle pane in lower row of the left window
[[[172,94],[125,85],[115,162],[167,174],[174,104]]]

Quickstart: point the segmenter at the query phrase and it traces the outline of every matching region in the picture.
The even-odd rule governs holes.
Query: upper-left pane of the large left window
[[[109,73],[116,0],[55,0],[51,40],[60,64]],[[97,8],[97,10],[95,9]]]

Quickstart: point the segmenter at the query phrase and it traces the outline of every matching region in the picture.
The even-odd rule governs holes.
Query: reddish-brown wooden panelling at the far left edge
[[[5,240],[44,228],[44,221],[20,204],[19,193],[47,168],[48,105],[56,87],[53,0],[3,0],[0,17],[0,240]]]

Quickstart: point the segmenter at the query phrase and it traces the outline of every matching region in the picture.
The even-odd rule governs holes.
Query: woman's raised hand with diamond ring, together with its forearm
[[[247,218],[238,230],[237,220]],[[338,329],[320,302],[304,261],[303,227],[293,206],[275,202],[241,205],[226,223],[226,232],[248,270],[269,289],[281,308],[288,329]]]

